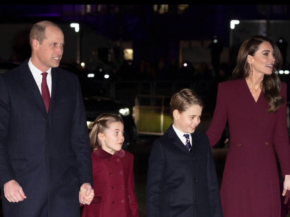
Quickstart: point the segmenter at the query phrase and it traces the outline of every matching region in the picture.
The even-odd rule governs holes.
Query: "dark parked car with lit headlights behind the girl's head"
[[[122,116],[124,121],[124,143],[122,148],[129,149],[136,143],[136,126],[129,108],[121,102],[100,96],[90,96],[84,98],[85,111],[87,114],[88,128],[92,129],[92,124],[98,115],[102,113],[116,113]]]

